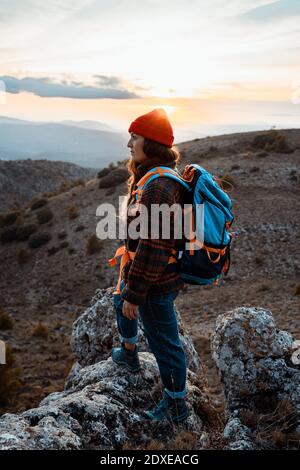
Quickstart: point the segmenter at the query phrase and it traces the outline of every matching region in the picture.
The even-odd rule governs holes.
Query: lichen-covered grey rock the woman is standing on
[[[20,415],[0,418],[0,449],[121,449],[142,448],[153,439],[168,445],[181,431],[206,436],[203,416],[210,410],[201,375],[188,371],[188,406],[184,424],[155,424],[144,410],[161,399],[162,387],[154,356],[142,340],[142,371],[131,374],[115,365],[110,350],[117,344],[112,288],[97,292],[91,307],[75,322],[72,346],[80,361],[66,381],[65,390],[52,393],[40,406]],[[191,339],[181,323],[189,362],[201,370]],[[207,445],[207,439],[206,439]]]

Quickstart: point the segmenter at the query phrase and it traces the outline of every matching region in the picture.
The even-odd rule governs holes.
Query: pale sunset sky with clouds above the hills
[[[300,0],[1,0],[0,115],[300,127]]]

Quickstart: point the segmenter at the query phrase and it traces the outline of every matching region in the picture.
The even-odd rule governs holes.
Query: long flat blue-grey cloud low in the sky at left
[[[117,77],[102,77],[104,86],[87,86],[82,82],[54,82],[48,77],[15,78],[0,76],[4,82],[7,93],[21,93],[22,91],[33,93],[41,97],[62,97],[74,99],[133,99],[141,98],[138,94],[124,89],[122,82]]]

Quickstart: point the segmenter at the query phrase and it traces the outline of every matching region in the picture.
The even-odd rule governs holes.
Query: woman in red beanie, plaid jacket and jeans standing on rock
[[[155,166],[176,169],[179,153],[172,148],[173,130],[163,109],[154,109],[138,117],[128,131],[131,134],[127,144],[131,150],[128,162],[131,174],[128,180],[129,209],[134,202],[132,192],[140,178]],[[148,183],[140,202],[147,207],[150,217],[152,204],[182,204],[182,195],[180,183],[159,177]],[[133,219],[134,216],[127,217],[127,228]],[[174,307],[183,281],[177,263],[169,261],[171,253],[180,249],[182,239],[174,237],[174,217],[170,220],[169,239],[161,239],[160,236],[158,239],[136,240],[127,234],[126,249],[134,252],[134,258],[125,265],[120,290],[114,294],[121,347],[112,350],[112,359],[132,372],[141,369],[137,348],[139,314],[164,386],[163,399],[153,410],[146,411],[146,416],[152,420],[167,419],[178,423],[189,416],[189,409],[185,402],[186,359]],[[151,228],[148,233],[151,233]]]

